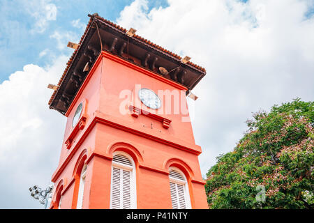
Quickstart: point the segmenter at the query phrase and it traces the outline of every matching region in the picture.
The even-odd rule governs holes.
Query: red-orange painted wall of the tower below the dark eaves
[[[169,184],[169,167],[184,172],[192,208],[207,208],[200,165],[190,122],[182,122],[188,114],[157,114],[171,120],[169,128],[163,121],[140,114],[121,114],[121,91],[133,92],[131,105],[142,105],[135,84],[142,88],[182,90],[183,86],[144,70],[117,56],[102,52],[89,72],[66,116],[66,130],[60,162],[52,176],[56,190],[52,208],[57,208],[58,188],[61,191],[61,208],[75,208],[77,200],[78,169],[87,164],[83,208],[110,208],[110,183],[114,151],[128,153],[135,162],[137,208],[172,208]],[[132,99],[132,98],[131,98]],[[162,107],[164,99],[160,98]],[[75,130],[72,120],[75,109],[83,103],[82,128]],[[181,101],[186,105],[186,98]],[[172,107],[173,107],[172,100]],[[154,112],[145,108],[148,112]],[[77,128],[76,128],[77,129]],[[73,134],[73,131],[76,131]],[[67,142],[70,140],[70,146]]]

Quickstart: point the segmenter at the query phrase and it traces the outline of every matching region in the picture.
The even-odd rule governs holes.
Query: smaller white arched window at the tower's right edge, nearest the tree
[[[169,171],[170,193],[173,209],[190,208],[190,195],[186,176],[179,169],[171,167]]]

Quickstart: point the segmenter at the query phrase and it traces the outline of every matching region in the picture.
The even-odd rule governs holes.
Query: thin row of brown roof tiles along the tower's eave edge
[[[111,26],[114,26],[115,28],[119,29],[120,31],[123,31],[124,33],[126,33],[126,29],[124,29],[123,27],[117,25],[117,24],[114,24],[113,22],[109,21],[109,20],[105,20],[103,17],[100,17],[99,15],[96,15],[94,14],[93,17],[96,17],[98,20],[101,20],[107,24],[110,24]],[[89,23],[87,24],[87,27],[80,39],[80,43],[78,43],[79,47],[77,47],[77,49],[75,49],[75,51],[73,52],[72,56],[70,57],[70,59],[68,60],[68,63],[66,63],[66,69],[63,71],[63,74],[59,80],[59,83],[58,83],[58,86],[61,85],[64,77],[66,76],[66,73],[68,72],[68,69],[70,68],[70,65],[73,61],[73,59],[75,58],[75,55],[77,54],[77,50],[80,48],[80,45],[82,44],[82,41],[84,40],[84,37],[86,36],[87,34],[87,31],[89,29],[89,26],[91,26],[91,23],[93,21],[93,18],[91,17],[91,19],[89,20]],[[156,49],[159,49],[161,50],[162,52],[164,52],[165,54],[169,54],[170,56],[174,56],[175,58],[181,60],[181,56],[177,55],[177,54],[174,54],[173,52],[170,52],[169,50],[163,48],[163,47],[160,47],[159,45],[156,45],[155,43],[151,43],[151,41],[145,39],[145,38],[142,38],[141,36],[138,36],[136,34],[133,35],[133,38],[137,38],[137,40],[140,40],[142,41],[143,43],[146,43],[148,45],[150,45],[151,47],[154,47]],[[206,72],[206,70],[204,68],[202,68],[201,66],[197,66],[195,63],[192,63],[190,61],[188,61],[188,63],[190,66],[193,66],[194,68],[197,68],[198,70],[202,70],[202,72]],[[51,105],[52,103],[52,100],[54,99],[54,96],[56,95],[58,89],[57,90],[54,90],[54,93],[52,93],[52,96],[48,102],[48,105]]]

